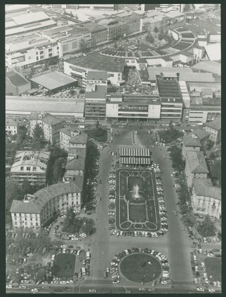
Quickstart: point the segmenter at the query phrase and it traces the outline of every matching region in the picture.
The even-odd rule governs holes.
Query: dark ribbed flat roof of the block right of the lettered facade
[[[158,93],[160,98],[180,98],[181,91],[177,80],[157,79]]]

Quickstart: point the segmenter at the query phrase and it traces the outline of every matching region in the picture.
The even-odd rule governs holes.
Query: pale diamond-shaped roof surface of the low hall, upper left
[[[65,85],[75,83],[77,80],[66,76],[65,74],[58,71],[47,72],[30,79],[48,90],[63,87]]]

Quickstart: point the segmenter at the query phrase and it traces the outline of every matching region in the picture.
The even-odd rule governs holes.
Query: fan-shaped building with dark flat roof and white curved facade
[[[88,71],[106,71],[107,80],[119,86],[122,81],[124,70],[124,59],[114,58],[99,53],[92,53],[89,56],[79,56],[64,61],[64,73],[82,80],[82,86],[87,83]]]

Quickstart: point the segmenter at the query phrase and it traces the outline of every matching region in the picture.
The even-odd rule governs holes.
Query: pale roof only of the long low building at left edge
[[[5,96],[5,110],[21,112],[84,112],[84,99]]]

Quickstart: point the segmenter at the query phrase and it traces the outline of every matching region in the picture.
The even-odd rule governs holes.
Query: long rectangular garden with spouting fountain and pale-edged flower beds
[[[119,169],[116,184],[117,228],[158,231],[161,224],[154,173],[147,169]]]

